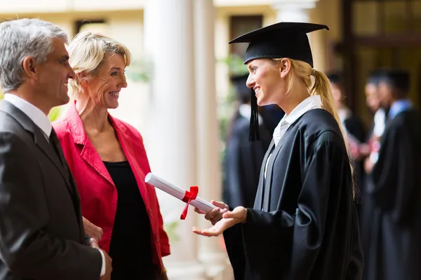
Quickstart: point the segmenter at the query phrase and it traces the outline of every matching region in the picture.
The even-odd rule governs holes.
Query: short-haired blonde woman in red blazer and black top
[[[170,246],[155,189],[144,181],[150,167],[142,137],[107,111],[119,106],[127,86],[130,52],[82,32],[69,56],[74,102],[54,129],[79,190],[86,234],[112,258],[112,279],[166,279],[161,258]]]

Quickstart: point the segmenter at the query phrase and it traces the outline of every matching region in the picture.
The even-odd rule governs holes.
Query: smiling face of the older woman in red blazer
[[[127,87],[124,74],[126,62],[121,55],[107,54],[88,83],[88,92],[96,106],[116,109],[119,106],[119,94]]]

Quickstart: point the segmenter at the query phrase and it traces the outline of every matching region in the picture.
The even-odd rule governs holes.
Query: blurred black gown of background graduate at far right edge
[[[368,189],[375,211],[366,279],[421,279],[420,124],[420,113],[404,111],[382,136]]]

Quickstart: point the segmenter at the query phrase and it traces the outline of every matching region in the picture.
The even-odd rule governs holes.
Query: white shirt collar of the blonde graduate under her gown
[[[283,134],[285,134],[286,130],[295,120],[298,120],[304,113],[310,111],[312,109],[321,109],[321,97],[320,95],[312,95],[304,99],[298,106],[296,106],[293,111],[289,115],[283,116],[279,124],[276,126],[274,130],[274,144],[275,147],[281,141]],[[272,153],[267,157],[267,161],[265,164],[265,179],[266,179],[266,172],[267,172],[267,165],[269,164],[269,160],[272,156]]]

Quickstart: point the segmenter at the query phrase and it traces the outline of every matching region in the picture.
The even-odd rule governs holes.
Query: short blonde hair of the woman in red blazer
[[[69,44],[68,52],[69,63],[76,74],[85,72],[95,75],[107,54],[121,55],[126,66],[131,64],[131,52],[125,45],[90,31],[81,31],[76,34]],[[76,97],[81,92],[79,78],[76,76],[73,80],[69,80],[69,84],[70,94],[72,97]]]

